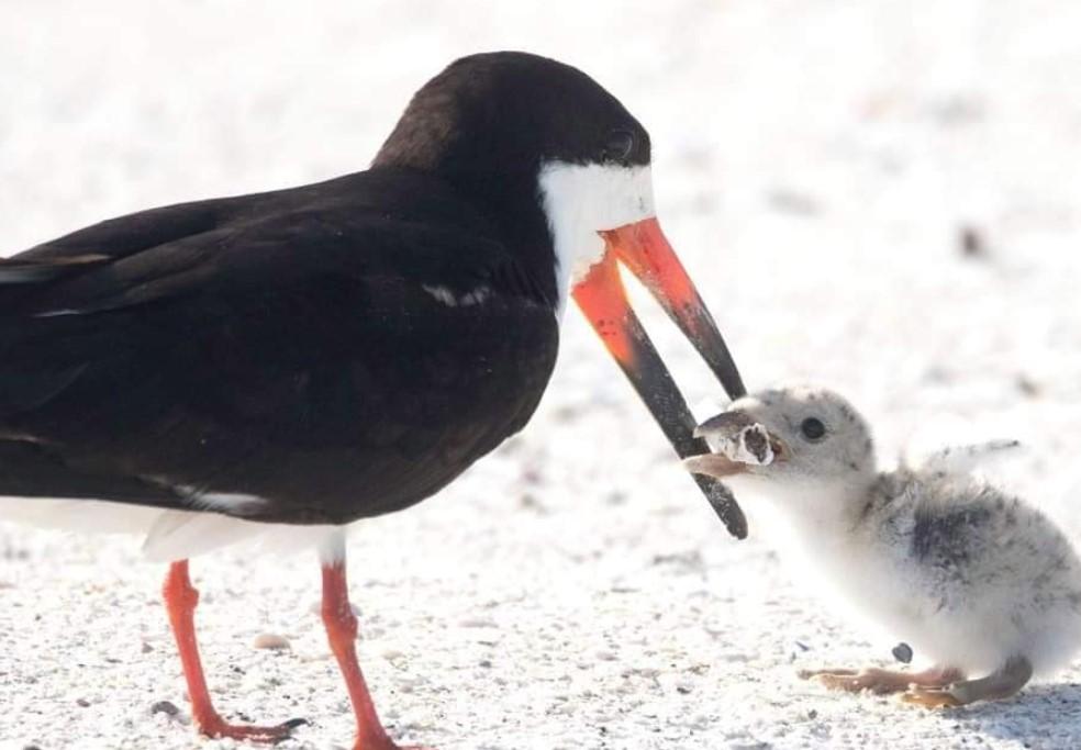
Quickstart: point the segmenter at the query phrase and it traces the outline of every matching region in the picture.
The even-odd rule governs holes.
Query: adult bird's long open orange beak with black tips
[[[617,261],[623,262],[653,293],[669,317],[698,349],[733,400],[746,395],[743,380],[716,323],[705,309],[656,217],[602,232],[603,259],[572,290],[586,317],[680,458],[709,452],[693,435],[694,417],[671,374],[627,303]],[[747,522],[727,488],[711,477],[695,481],[735,537],[747,536]]]

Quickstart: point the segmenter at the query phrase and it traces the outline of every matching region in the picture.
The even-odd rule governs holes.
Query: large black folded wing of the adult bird
[[[122,502],[182,486],[142,502],[243,493],[259,519],[342,523],[435,492],[524,425],[557,332],[483,220],[416,180],[159,209],[0,265],[51,269],[0,286],[0,435]],[[5,456],[0,495],[71,496]]]

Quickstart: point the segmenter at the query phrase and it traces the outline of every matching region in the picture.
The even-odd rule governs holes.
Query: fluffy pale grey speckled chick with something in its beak
[[[807,388],[739,399],[698,433],[720,452],[688,468],[760,504],[800,570],[933,664],[803,676],[960,706],[1010,697],[1081,646],[1081,561],[1070,541],[970,471],[1016,443],[946,449],[878,472],[867,423],[839,395]]]

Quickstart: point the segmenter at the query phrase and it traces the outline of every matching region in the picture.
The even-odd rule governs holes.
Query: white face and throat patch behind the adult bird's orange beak
[[[604,256],[599,232],[649,219],[656,211],[649,167],[548,161],[537,177],[556,250],[557,315],[570,288]]]

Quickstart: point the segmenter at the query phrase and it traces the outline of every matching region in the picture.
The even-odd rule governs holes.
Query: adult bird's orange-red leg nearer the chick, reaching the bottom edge
[[[353,750],[423,750],[422,748],[400,749],[387,735],[379,723],[376,706],[368,693],[364,673],[357,662],[356,639],[357,618],[349,606],[349,590],[345,580],[344,560],[323,564],[323,624],[331,650],[337,659],[349,690],[353,713],[357,717],[357,741]]]

